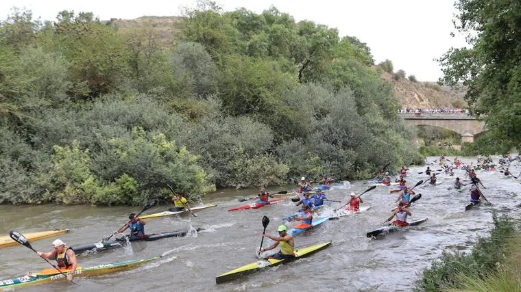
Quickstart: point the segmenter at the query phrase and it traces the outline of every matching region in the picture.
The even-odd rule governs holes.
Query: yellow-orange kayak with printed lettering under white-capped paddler
[[[94,267],[77,267],[76,271],[74,272],[74,276],[86,277],[115,273],[117,271],[124,271],[125,269],[130,269],[132,267],[142,265],[143,263],[147,263],[149,261],[156,261],[159,258],[160,256],[155,256],[153,258],[145,258],[143,260],[125,261],[122,263],[110,263],[106,265],[97,265]],[[63,273],[66,273],[70,271],[70,269],[61,269],[61,271]],[[20,278],[0,281],[0,290],[11,287],[19,287],[22,285],[43,284],[49,282],[56,282],[60,280],[65,280],[65,276],[60,274],[59,271],[57,271],[56,269],[44,269],[43,271],[39,271],[38,273],[29,273],[27,274],[27,276],[23,276]]]

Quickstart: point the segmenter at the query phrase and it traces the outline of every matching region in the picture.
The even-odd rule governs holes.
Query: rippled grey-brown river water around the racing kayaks
[[[435,159],[429,157],[429,161]],[[452,157],[449,157],[452,159]],[[470,162],[475,159],[467,158]],[[497,161],[497,159],[495,159]],[[437,166],[431,166],[437,169]],[[411,168],[407,181],[414,185],[426,180],[425,167]],[[518,174],[519,168],[514,174]],[[477,237],[487,235],[492,228],[492,213],[507,213],[518,217],[521,198],[521,178],[502,178],[500,172],[477,172],[487,189],[483,194],[492,206],[475,207],[465,212],[470,199],[469,191],[459,194],[449,191],[454,178],[441,175],[443,181],[436,187],[420,186],[416,193],[422,199],[411,208],[409,220],[428,217],[420,226],[391,233],[379,239],[367,239],[365,233],[380,227],[390,215],[396,194],[389,194],[391,187],[377,187],[362,196],[362,206],[372,208],[359,215],[342,217],[326,222],[295,237],[298,248],[332,241],[332,245],[313,256],[245,276],[226,284],[215,284],[215,276],[230,269],[257,261],[256,250],[260,245],[261,219],[267,215],[271,222],[267,232],[276,234],[281,217],[297,209],[291,201],[274,204],[256,210],[228,212],[246,202],[237,197],[254,194],[254,190],[221,190],[204,197],[204,203],[217,207],[200,211],[198,217],[167,217],[147,222],[147,233],[189,228],[204,228],[189,237],[160,239],[152,242],[134,242],[132,245],[87,256],[78,256],[83,267],[148,258],[165,254],[160,261],[148,263],[136,269],[118,274],[93,278],[76,278],[75,284],[66,282],[21,287],[27,291],[411,291],[415,280],[425,267],[439,258],[443,250],[470,250]],[[463,170],[456,176],[463,178]],[[346,200],[351,191],[360,193],[369,186],[362,181],[352,181],[350,189],[326,192],[328,198]],[[285,186],[270,189],[291,189]],[[197,205],[197,204],[193,204]],[[332,203],[328,209],[339,207]],[[517,206],[517,207],[516,207]],[[158,206],[147,213],[165,211]],[[71,233],[49,239],[33,241],[36,250],[50,251],[51,242],[60,238],[68,245],[93,243],[125,223],[136,207],[90,206],[10,206],[0,205],[0,232],[7,234],[14,228],[23,233],[55,228],[70,228]],[[327,213],[327,210],[324,211]],[[145,214],[147,214],[145,213]],[[267,246],[270,240],[265,240]],[[48,266],[34,252],[18,245],[0,249],[0,280],[23,276],[28,271],[38,271]]]

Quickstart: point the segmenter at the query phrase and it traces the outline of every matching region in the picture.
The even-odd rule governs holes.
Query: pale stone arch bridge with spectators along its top
[[[461,142],[474,142],[474,137],[485,131],[485,122],[468,114],[398,113],[407,124],[448,129],[461,135]]]

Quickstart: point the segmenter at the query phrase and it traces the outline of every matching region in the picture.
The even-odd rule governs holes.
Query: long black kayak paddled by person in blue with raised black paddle
[[[200,230],[200,228],[196,229],[197,231]],[[163,238],[169,238],[169,237],[184,237],[188,234],[188,230],[175,230],[170,231],[166,233],[153,233],[150,235],[146,235],[145,237],[130,237],[130,235],[125,235],[125,237],[121,239],[115,239],[110,241],[100,241],[97,243],[90,243],[90,244],[84,244],[84,245],[77,245],[72,246],[72,250],[76,254],[80,254],[82,252],[87,251],[93,251],[93,252],[100,252],[102,250],[110,250],[112,248],[120,248],[121,246],[127,244],[129,241],[154,241],[158,239]]]

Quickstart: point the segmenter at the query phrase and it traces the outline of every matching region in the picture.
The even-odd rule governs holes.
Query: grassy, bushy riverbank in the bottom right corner
[[[423,271],[417,291],[520,291],[521,233],[507,216],[494,215],[489,237],[470,253],[444,252]]]

